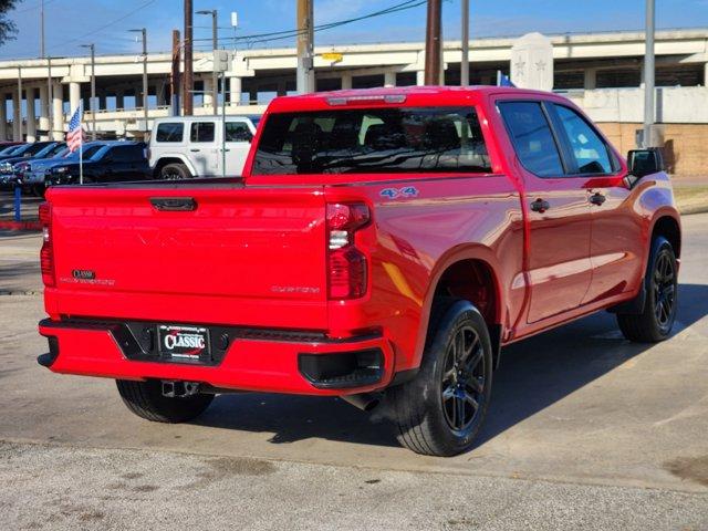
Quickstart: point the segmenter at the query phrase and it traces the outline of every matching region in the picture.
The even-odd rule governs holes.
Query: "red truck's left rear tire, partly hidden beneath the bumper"
[[[201,415],[214,399],[214,395],[204,394],[176,398],[163,396],[163,384],[158,379],[116,379],[115,383],[128,409],[154,423],[186,423]]]

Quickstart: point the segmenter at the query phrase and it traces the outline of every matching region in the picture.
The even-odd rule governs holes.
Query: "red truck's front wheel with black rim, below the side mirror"
[[[668,339],[678,303],[676,254],[668,240],[654,239],[644,278],[646,301],[639,314],[617,314],[624,336],[637,343],[658,343]]]

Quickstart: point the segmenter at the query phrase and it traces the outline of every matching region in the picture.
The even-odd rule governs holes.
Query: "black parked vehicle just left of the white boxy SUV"
[[[114,140],[102,144],[93,154],[84,157],[84,184],[142,180],[152,177],[144,143]],[[79,184],[80,167],[76,157],[53,166],[46,177],[46,186]]]

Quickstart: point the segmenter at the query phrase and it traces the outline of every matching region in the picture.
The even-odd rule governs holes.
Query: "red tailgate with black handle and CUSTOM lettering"
[[[50,313],[326,327],[320,187],[59,188],[49,200]]]

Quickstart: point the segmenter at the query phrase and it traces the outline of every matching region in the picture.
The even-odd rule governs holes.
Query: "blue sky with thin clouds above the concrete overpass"
[[[315,24],[361,17],[403,0],[315,0]],[[168,51],[171,30],[183,28],[181,0],[44,0],[46,53],[83,55],[80,44],[95,43],[97,54],[139,53],[129,29],[147,28],[148,51]],[[657,28],[708,28],[708,0],[656,0]],[[237,35],[292,30],[295,0],[194,0],[195,11],[217,9],[221,37],[232,37],[230,12],[238,11]],[[0,46],[0,59],[39,56],[40,0],[23,0],[9,18],[19,33]],[[470,35],[508,37],[542,33],[636,30],[644,27],[644,0],[470,0]],[[459,38],[459,0],[442,0],[444,38]],[[425,6],[317,32],[315,45],[423,41]],[[195,43],[205,49],[209,17],[195,15]],[[199,39],[204,39],[202,41]],[[292,39],[251,46],[293,45]],[[231,48],[230,42],[225,43]],[[239,48],[247,48],[244,41]]]

